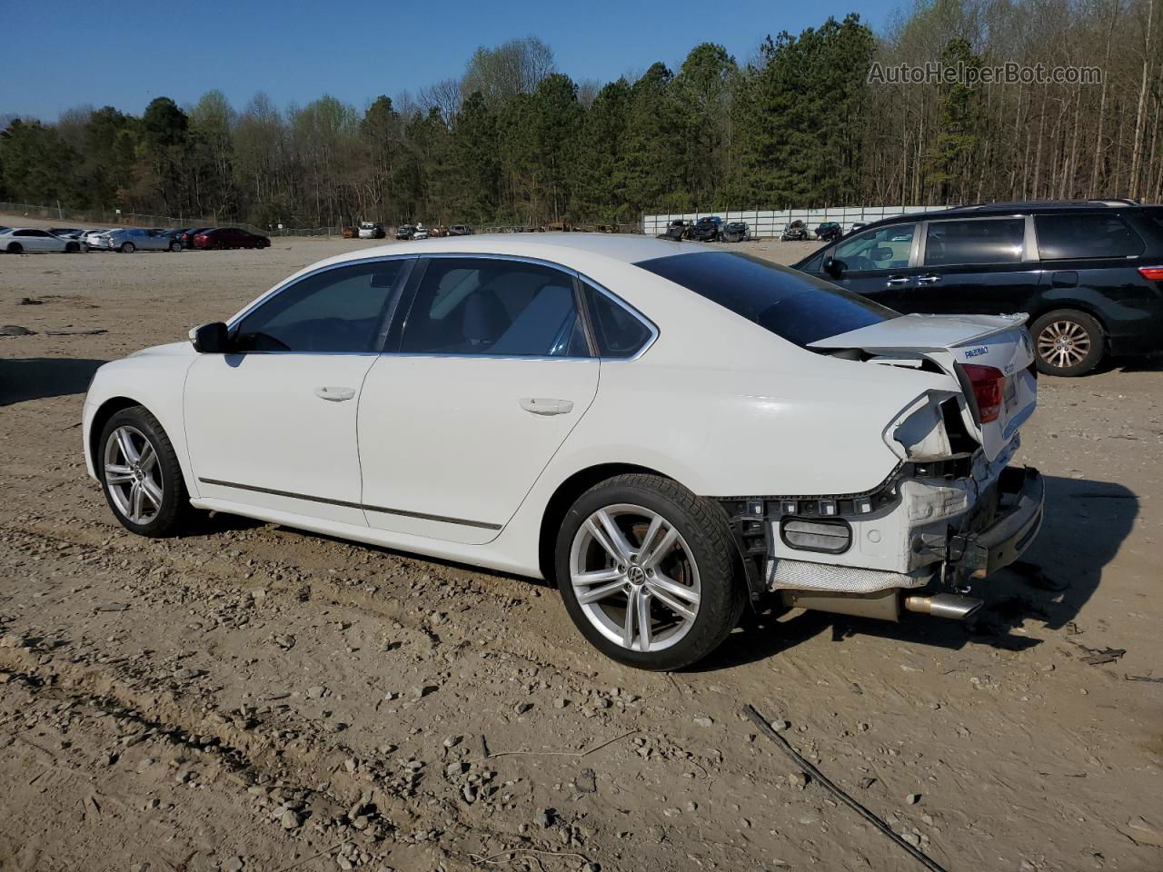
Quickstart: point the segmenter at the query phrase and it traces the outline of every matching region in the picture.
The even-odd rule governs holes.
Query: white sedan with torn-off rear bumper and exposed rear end
[[[397,244],[102,366],[85,453],[134,533],[213,509],[552,578],[602,652],[678,669],[772,596],[980,605],[961,588],[1042,519],[1008,466],[1023,321],[901,316],[694,243]]]

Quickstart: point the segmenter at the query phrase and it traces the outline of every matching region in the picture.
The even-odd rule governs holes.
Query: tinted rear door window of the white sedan
[[[402,353],[590,357],[573,278],[499,258],[433,258],[400,339]]]

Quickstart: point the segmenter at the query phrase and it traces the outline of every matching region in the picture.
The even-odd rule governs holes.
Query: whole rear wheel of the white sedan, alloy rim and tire
[[[735,546],[714,503],[657,476],[586,491],[557,536],[557,586],[573,623],[607,657],[677,670],[739,622]]]

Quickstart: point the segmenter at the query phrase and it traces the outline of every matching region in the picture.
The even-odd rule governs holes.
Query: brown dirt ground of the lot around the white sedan
[[[0,256],[0,870],[921,869],[743,703],[950,872],[1163,869],[1157,365],[1042,380],[1047,522],[980,620],[764,614],[642,673],[543,582],[114,522],[93,370],[370,244]]]

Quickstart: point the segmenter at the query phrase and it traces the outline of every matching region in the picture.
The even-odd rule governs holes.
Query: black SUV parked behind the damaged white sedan
[[[904,313],[1029,313],[1037,369],[1163,351],[1163,206],[1087,200],[884,219],[794,265]]]

